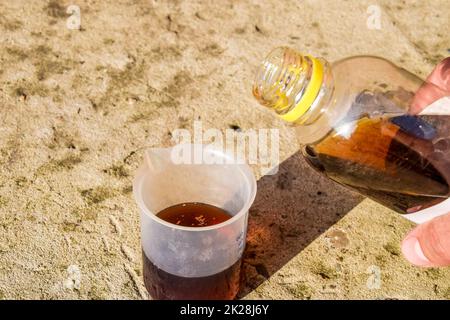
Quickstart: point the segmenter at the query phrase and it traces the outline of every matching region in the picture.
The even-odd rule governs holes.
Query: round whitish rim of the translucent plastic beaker
[[[203,144],[187,144],[187,145],[191,146],[192,148],[194,148],[195,146],[201,146],[202,148],[207,148],[207,150],[220,153],[220,155],[223,156],[224,158],[233,159],[233,156],[230,155],[229,153],[227,153],[226,151],[223,151],[223,150],[220,150],[217,148],[213,148],[210,145],[203,145]],[[173,148],[174,147],[153,148],[153,150],[169,151]],[[196,165],[196,164],[192,164],[192,165]],[[246,164],[246,163],[227,163],[227,165],[236,166],[237,168],[239,168],[240,173],[245,177],[245,179],[248,182],[248,185],[250,187],[250,192],[249,192],[249,196],[247,197],[244,205],[241,207],[241,209],[238,211],[238,213],[236,213],[233,217],[231,217],[230,219],[228,219],[224,222],[221,222],[221,223],[218,223],[218,224],[215,224],[212,226],[206,226],[206,227],[187,227],[187,226],[179,226],[179,225],[167,222],[167,221],[159,218],[156,215],[157,212],[154,213],[152,210],[150,210],[147,207],[147,205],[145,204],[144,199],[142,197],[142,193],[141,193],[142,186],[143,186],[145,178],[148,174],[148,170],[146,170],[145,164],[143,164],[137,170],[137,173],[133,180],[134,198],[135,198],[136,203],[137,203],[139,209],[141,210],[141,212],[143,212],[145,215],[147,215],[150,219],[152,219],[152,220],[156,221],[157,223],[164,225],[168,228],[172,228],[172,229],[176,229],[176,230],[183,230],[183,231],[190,231],[190,232],[201,232],[201,231],[221,229],[221,228],[226,227],[226,226],[234,223],[235,221],[241,219],[242,216],[245,215],[249,211],[250,207],[252,206],[253,202],[255,201],[256,190],[257,190],[255,175],[253,174],[253,172],[252,172],[251,168],[248,166],[248,164]]]

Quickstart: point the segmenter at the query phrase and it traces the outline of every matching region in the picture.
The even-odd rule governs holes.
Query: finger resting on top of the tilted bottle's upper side
[[[417,114],[436,100],[450,94],[450,57],[442,60],[417,90],[410,113]]]

